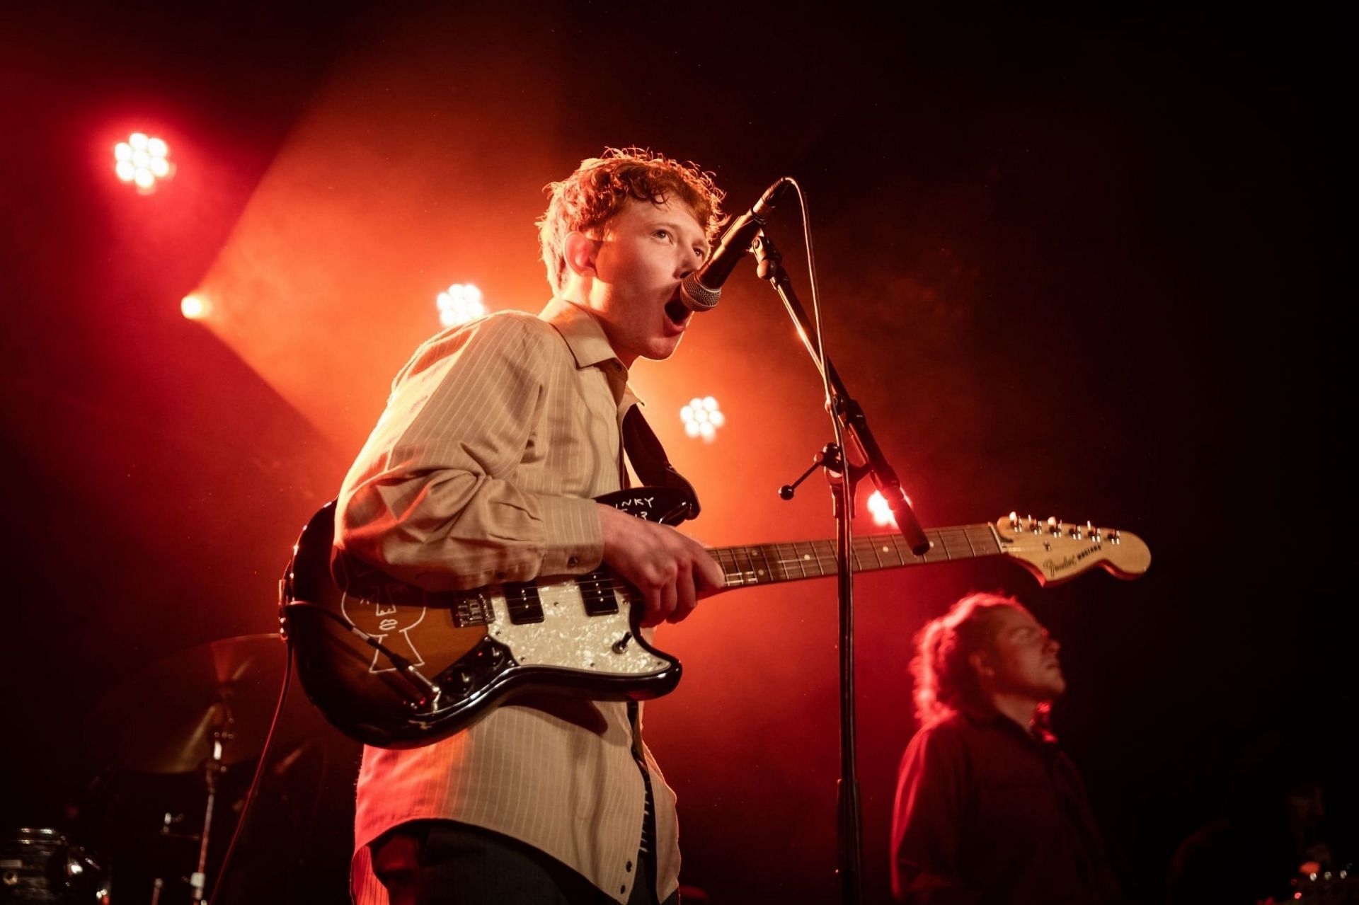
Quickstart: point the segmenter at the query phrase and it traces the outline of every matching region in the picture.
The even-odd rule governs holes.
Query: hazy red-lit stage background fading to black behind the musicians
[[[137,675],[275,628],[289,545],[438,329],[434,294],[472,280],[492,307],[537,310],[540,188],[636,143],[712,168],[733,213],[779,175],[803,183],[828,348],[927,525],[1019,508],[1152,550],[1133,583],[1038,590],[988,561],[859,580],[870,901],[886,898],[915,731],[911,636],[973,588],[1019,592],[1063,640],[1055,727],[1136,901],[1161,900],[1243,753],[1320,781],[1337,860],[1355,857],[1345,34],[1332,5],[0,14],[16,579],[0,823],[121,852],[124,901],[144,897],[147,870],[192,870],[186,848],[129,840],[163,811],[200,821],[200,780],[120,769],[124,742],[91,720],[132,688],[145,707],[116,723],[173,735]],[[137,128],[174,137],[179,171],[155,196],[111,173],[111,144]],[[298,173],[325,175],[326,228],[352,245],[318,250],[299,226],[317,204],[289,189]],[[779,216],[810,299],[795,207]],[[275,257],[238,294],[235,327],[179,315],[200,285],[239,287],[260,260],[242,249],[261,247]],[[447,269],[429,272],[439,254]],[[333,270],[368,283],[315,276]],[[791,504],[773,495],[829,439],[776,300],[738,274],[701,317],[673,363],[635,370],[704,493],[694,533],[830,535],[817,480]],[[667,414],[696,393],[728,416],[711,446]],[[836,894],[833,588],[788,587],[718,598],[662,636],[686,678],[648,705],[648,738],[680,794],[684,882],[713,902]],[[276,671],[250,679],[268,707]],[[247,837],[257,866],[291,859],[272,887],[287,891],[247,859],[241,901],[344,894],[356,747],[295,704],[281,751],[298,757]],[[245,772],[227,777],[232,806]]]

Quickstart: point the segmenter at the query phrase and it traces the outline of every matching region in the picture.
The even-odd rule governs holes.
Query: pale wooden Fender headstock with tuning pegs
[[[996,519],[993,527],[1000,552],[1019,560],[1038,584],[1057,584],[1097,565],[1116,578],[1135,579],[1151,565],[1143,539],[1118,529],[1019,518],[1017,512]]]

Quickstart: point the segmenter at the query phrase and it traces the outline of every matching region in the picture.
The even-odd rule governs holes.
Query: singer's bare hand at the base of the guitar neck
[[[603,561],[646,601],[644,626],[678,622],[700,598],[726,586],[722,567],[701,544],[669,525],[656,525],[599,503]]]

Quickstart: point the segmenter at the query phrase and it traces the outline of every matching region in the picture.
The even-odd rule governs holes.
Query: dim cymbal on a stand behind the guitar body
[[[86,738],[116,765],[144,773],[202,768],[219,731],[223,764],[254,758],[269,731],[284,663],[277,635],[177,651],[106,694],[86,720]]]

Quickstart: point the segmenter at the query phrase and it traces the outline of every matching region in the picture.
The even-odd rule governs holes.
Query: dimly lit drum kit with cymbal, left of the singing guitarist
[[[151,663],[106,693],[84,723],[105,769],[73,828],[23,828],[0,841],[0,905],[207,901],[265,746],[285,662],[277,635],[228,637]],[[296,849],[295,833],[314,822],[334,758],[326,750],[333,734],[300,694],[289,697],[246,837],[255,826],[275,840],[289,833]],[[246,844],[232,862],[280,883],[279,859],[296,853],[280,852],[288,848]],[[226,886],[235,885],[234,876]],[[222,901],[260,897],[238,890]]]

